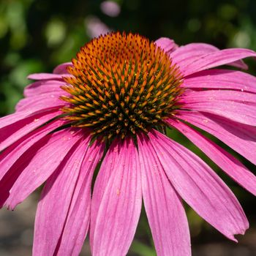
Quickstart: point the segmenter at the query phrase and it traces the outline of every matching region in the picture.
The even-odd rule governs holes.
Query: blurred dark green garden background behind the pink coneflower
[[[70,61],[91,37],[116,30],[137,32],[152,40],[170,37],[178,45],[208,42],[219,48],[256,50],[256,1],[0,0],[0,116],[14,110],[15,103],[22,97],[24,86],[29,84],[27,75],[51,72],[56,65]],[[252,65],[249,72],[256,74],[253,61],[246,62]],[[172,136],[177,137],[175,133]],[[246,236],[239,237],[241,243],[236,246],[187,208],[193,254],[256,255],[254,197],[223,176],[187,140],[183,139],[182,143],[204,157],[224,178],[238,196],[251,223],[250,230]],[[245,159],[236,156],[251,170],[254,168]],[[33,215],[34,212],[31,212]],[[4,215],[3,218],[8,221],[9,217]],[[22,228],[17,232],[0,236],[0,246],[5,248],[5,251],[0,249],[0,255],[4,255],[1,252],[6,252],[6,255],[23,255],[21,251],[11,254],[8,248],[12,246],[30,249],[30,242],[22,244],[17,238]],[[12,243],[14,238],[16,244]],[[83,255],[87,253],[85,249]],[[130,255],[155,255],[145,214],[141,217]]]

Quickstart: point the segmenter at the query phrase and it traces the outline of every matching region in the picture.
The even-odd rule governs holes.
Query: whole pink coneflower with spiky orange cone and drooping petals
[[[45,183],[34,255],[78,255],[88,231],[92,255],[126,255],[142,200],[157,255],[191,254],[181,199],[227,238],[244,234],[249,225],[233,192],[165,131],[183,133],[256,195],[255,176],[195,129],[256,164],[256,78],[215,68],[243,69],[251,56],[112,33],[53,74],[30,75],[37,81],[0,120],[0,203],[13,209]]]

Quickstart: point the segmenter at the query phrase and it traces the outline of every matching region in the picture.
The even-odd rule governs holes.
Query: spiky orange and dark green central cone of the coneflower
[[[73,126],[102,138],[125,138],[164,125],[177,108],[182,76],[170,57],[138,34],[111,33],[91,40],[67,68],[62,89]]]

